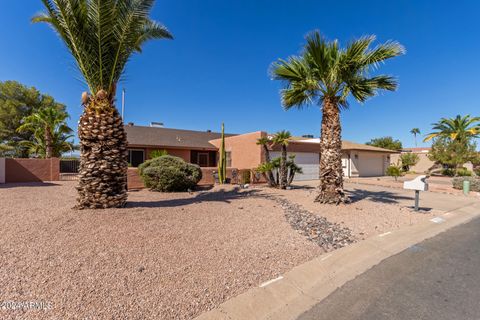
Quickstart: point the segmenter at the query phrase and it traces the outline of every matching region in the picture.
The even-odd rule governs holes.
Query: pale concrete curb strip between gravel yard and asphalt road
[[[478,204],[323,254],[201,314],[196,320],[296,319],[337,288],[414,244],[480,217]]]

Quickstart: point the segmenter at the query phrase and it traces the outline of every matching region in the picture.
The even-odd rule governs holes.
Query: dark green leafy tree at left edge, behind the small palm
[[[8,156],[29,156],[29,148],[23,141],[33,142],[34,134],[31,131],[19,132],[17,128],[25,117],[49,107],[66,112],[65,105],[34,87],[16,81],[0,82],[0,144],[8,147]]]

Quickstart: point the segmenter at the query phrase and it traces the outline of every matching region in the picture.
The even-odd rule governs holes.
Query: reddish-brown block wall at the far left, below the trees
[[[60,180],[60,159],[5,159],[5,182]]]

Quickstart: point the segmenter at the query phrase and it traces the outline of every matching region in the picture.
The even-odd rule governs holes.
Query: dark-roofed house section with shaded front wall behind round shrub
[[[153,150],[165,150],[169,155],[198,164],[201,167],[217,165],[217,147],[209,141],[221,134],[211,131],[193,131],[163,127],[125,126],[128,141],[128,162],[138,167],[150,159]],[[226,135],[231,136],[231,135]]]

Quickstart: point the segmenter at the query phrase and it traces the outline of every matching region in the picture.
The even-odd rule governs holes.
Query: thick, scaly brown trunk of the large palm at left
[[[127,201],[127,136],[112,98],[89,97],[80,117],[77,208],[118,208]]]

